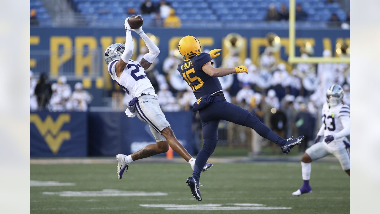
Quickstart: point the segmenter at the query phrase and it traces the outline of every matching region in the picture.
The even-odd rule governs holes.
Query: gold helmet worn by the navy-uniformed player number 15
[[[178,51],[184,59],[190,59],[201,53],[201,43],[193,36],[182,37],[179,40]]]

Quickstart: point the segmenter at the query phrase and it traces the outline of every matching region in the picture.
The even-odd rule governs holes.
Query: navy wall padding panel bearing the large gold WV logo
[[[30,157],[86,155],[86,112],[30,113]]]

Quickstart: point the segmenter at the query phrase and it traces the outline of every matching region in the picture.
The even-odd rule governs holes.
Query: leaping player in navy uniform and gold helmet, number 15
[[[235,68],[212,67],[211,59],[219,56],[220,53],[217,52],[221,49],[202,53],[201,43],[193,36],[182,37],[179,41],[178,50],[184,61],[178,65],[177,70],[192,88],[197,99],[193,111],[198,110],[202,120],[203,148],[196,156],[193,175],[186,181],[196,200],[202,200],[199,191],[199,177],[204,164],[215,150],[220,120],[254,129],[260,136],[279,145],[283,153],[288,153],[295,145],[301,144],[304,136],[299,136],[296,139],[283,139],[248,110],[226,101],[218,77],[233,73],[248,73],[247,67],[244,65]]]

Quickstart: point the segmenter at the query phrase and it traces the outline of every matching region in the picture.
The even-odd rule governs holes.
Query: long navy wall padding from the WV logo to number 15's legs
[[[165,117],[179,142],[194,154],[192,112],[166,112]],[[149,125],[124,112],[30,113],[30,157],[115,156],[147,144],[155,144]]]

